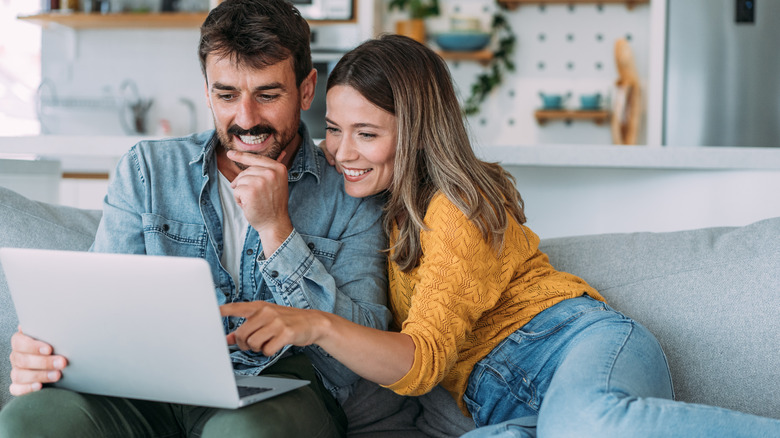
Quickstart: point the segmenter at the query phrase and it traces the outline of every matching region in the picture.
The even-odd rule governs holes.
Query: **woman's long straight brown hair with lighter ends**
[[[338,62],[327,89],[345,85],[396,116],[398,143],[385,204],[384,229],[399,235],[391,260],[404,272],[419,265],[420,231],[438,192],[455,204],[497,251],[507,213],[525,222],[514,178],[471,148],[447,64],[411,38],[384,35],[353,49]]]

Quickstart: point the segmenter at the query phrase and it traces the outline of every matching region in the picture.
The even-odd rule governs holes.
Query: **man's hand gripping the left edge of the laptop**
[[[62,369],[68,361],[53,355],[51,345],[33,339],[19,329],[11,337],[11,386],[12,395],[38,391],[44,383],[62,378]]]

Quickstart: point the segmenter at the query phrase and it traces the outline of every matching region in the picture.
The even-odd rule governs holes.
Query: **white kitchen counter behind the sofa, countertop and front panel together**
[[[100,208],[108,181],[89,178],[109,176],[142,139],[0,137],[0,158],[56,159],[66,176],[59,202]],[[528,225],[543,237],[744,225],[780,216],[780,148],[487,146],[477,155],[515,177]]]

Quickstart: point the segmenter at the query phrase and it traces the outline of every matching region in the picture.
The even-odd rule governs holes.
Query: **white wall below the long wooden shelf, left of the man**
[[[153,99],[149,134],[159,120],[172,134],[191,132],[187,104],[192,102],[197,130],[211,126],[203,76],[197,58],[198,29],[85,29],[52,27],[42,40],[44,133],[125,135],[119,117],[120,86],[132,79],[140,97]]]

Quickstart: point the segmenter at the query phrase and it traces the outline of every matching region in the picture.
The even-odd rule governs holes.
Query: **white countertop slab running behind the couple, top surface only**
[[[110,172],[133,144],[148,137],[0,137],[0,156],[56,158],[64,172]],[[477,155],[512,166],[780,170],[780,148],[613,145],[483,146]]]

